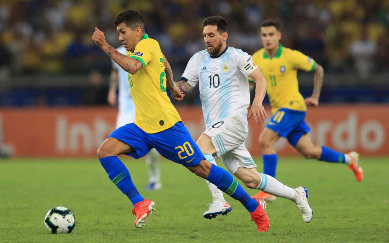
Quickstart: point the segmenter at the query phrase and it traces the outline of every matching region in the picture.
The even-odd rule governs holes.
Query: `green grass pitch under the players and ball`
[[[211,200],[208,187],[183,166],[162,161],[163,189],[145,191],[144,160],[123,160],[140,193],[156,202],[142,229],[134,227],[130,201],[109,181],[97,158],[0,160],[0,242],[389,242],[387,158],[362,157],[360,183],[345,165],[279,158],[277,179],[309,189],[314,219],[304,223],[291,201],[277,198],[267,204],[266,233],[257,233],[249,213],[227,195],[232,213],[204,219]],[[261,170],[261,160],[256,161]],[[71,234],[47,233],[44,215],[55,206],[73,211]]]

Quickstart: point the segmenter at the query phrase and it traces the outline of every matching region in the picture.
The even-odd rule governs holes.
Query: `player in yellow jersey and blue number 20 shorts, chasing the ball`
[[[130,57],[110,46],[105,41],[104,33],[98,28],[95,29],[92,40],[130,73],[128,83],[135,104],[135,123],[126,124],[112,132],[98,149],[97,156],[109,179],[133,204],[135,226],[144,226],[149,213],[155,210],[155,203],[140,195],[131,180],[130,172],[117,156],[127,154],[138,159],[151,148],[155,148],[165,158],[184,165],[240,201],[256,224],[267,219],[264,202],[251,198],[231,174],[207,161],[184,127],[177,110],[166,95],[166,87],[177,100],[182,100],[184,94],[173,83],[172,70],[159,43],[145,33],[143,17],[135,10],[126,10],[116,17],[114,23],[119,40],[127,51],[132,52]],[[259,111],[254,109],[253,112]],[[255,212],[260,211],[265,211],[263,217],[256,217]],[[266,231],[267,228],[261,229]]]

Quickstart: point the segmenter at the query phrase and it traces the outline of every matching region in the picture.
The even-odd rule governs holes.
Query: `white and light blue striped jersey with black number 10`
[[[240,49],[227,47],[210,56],[207,50],[189,60],[181,79],[193,87],[199,83],[205,126],[235,114],[247,117],[250,90],[247,77],[258,66]]]

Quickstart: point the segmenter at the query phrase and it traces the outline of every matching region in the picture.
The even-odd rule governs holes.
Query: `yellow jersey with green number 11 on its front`
[[[266,79],[266,93],[273,114],[280,108],[307,110],[303,96],[298,91],[297,69],[312,71],[316,63],[314,59],[280,44],[274,57],[268,57],[265,48],[262,48],[252,55],[252,61],[259,66]]]

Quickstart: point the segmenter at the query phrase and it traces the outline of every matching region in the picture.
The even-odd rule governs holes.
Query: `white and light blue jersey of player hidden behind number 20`
[[[126,55],[127,50],[123,45],[117,47],[116,50],[121,54]],[[135,113],[135,104],[131,98],[130,87],[128,85],[128,73],[114,61],[112,61],[112,68],[117,70],[119,78],[119,96],[117,99],[119,102],[119,113]]]

